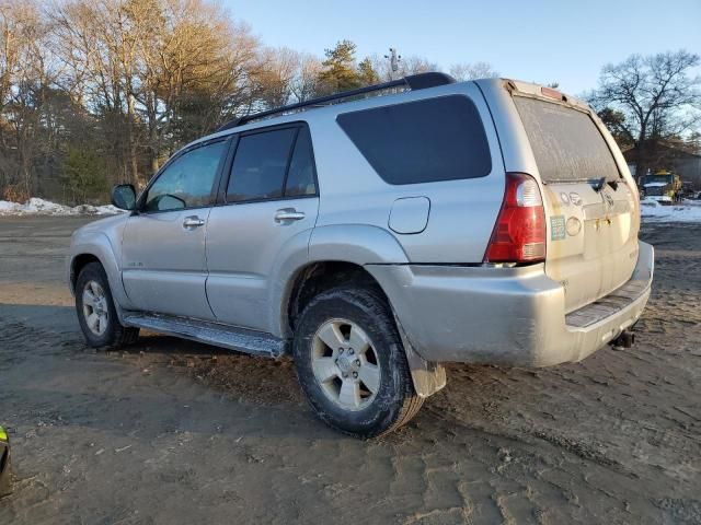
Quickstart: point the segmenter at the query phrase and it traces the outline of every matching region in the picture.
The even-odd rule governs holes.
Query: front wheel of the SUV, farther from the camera
[[[93,348],[116,350],[133,345],[139,329],[122,326],[112,299],[107,275],[100,262],[90,262],[76,281],[76,312],[85,337]]]

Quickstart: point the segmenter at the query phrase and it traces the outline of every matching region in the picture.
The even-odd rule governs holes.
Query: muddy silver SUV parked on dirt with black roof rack
[[[409,421],[444,362],[630,346],[652,283],[611,136],[512,80],[426,73],[244,117],[113,202],[129,213],[71,243],[89,345],[146,328],[291,354],[318,416],[365,438]]]

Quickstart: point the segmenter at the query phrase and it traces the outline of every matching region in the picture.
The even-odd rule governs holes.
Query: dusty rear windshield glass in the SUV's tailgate
[[[619,178],[611,150],[587,114],[525,96],[514,103],[544,183]]]

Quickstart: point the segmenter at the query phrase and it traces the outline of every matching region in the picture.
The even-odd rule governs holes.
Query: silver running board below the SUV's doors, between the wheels
[[[124,323],[253,355],[279,358],[287,350],[285,340],[269,334],[189,317],[125,312]]]

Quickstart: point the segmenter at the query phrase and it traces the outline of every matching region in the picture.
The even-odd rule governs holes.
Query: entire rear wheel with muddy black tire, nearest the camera
[[[299,317],[292,350],[309,404],[341,432],[376,438],[409,422],[423,405],[391,310],[375,289],[315,296]]]

